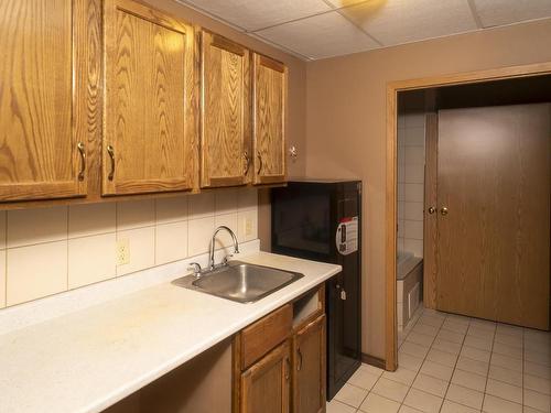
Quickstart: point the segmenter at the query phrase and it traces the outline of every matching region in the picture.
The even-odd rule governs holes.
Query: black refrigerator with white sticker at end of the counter
[[[325,285],[331,400],[361,363],[361,182],[289,182],[271,210],[272,252],[343,267]]]

